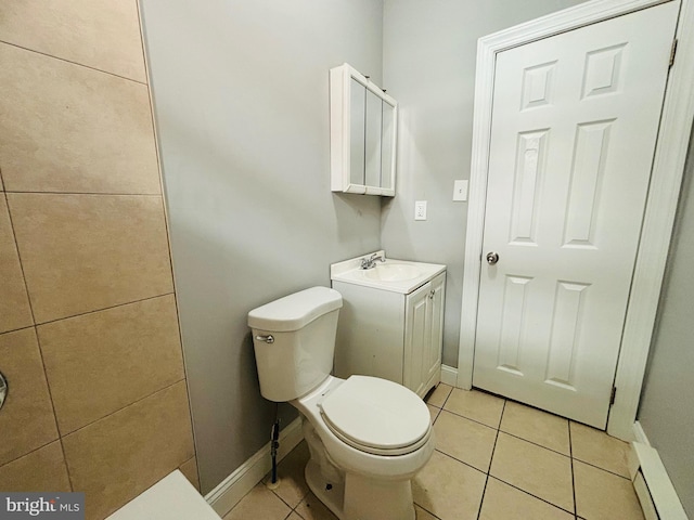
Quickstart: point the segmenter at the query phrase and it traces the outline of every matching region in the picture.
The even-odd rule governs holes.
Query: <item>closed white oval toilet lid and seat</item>
[[[403,448],[424,443],[432,428],[429,411],[414,392],[377,377],[351,376],[319,406],[337,437],[371,453],[408,453]]]

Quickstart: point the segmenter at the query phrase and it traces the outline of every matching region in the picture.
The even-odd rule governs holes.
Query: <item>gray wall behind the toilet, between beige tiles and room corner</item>
[[[141,9],[205,493],[269,440],[246,313],[381,245],[380,198],[330,191],[327,79],[348,62],[381,80],[383,4]]]

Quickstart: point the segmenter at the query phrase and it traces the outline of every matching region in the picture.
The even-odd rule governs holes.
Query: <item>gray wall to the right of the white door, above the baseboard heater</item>
[[[694,143],[684,176],[638,418],[694,518]]]

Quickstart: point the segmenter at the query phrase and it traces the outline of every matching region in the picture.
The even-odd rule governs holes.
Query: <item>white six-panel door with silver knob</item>
[[[498,54],[474,386],[605,427],[678,8]]]

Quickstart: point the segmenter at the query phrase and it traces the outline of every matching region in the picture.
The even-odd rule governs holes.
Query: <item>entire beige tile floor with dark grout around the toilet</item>
[[[628,444],[479,391],[439,385],[428,396],[436,452],[412,485],[417,520],[643,520]],[[335,520],[304,481],[301,442],[224,520]]]

